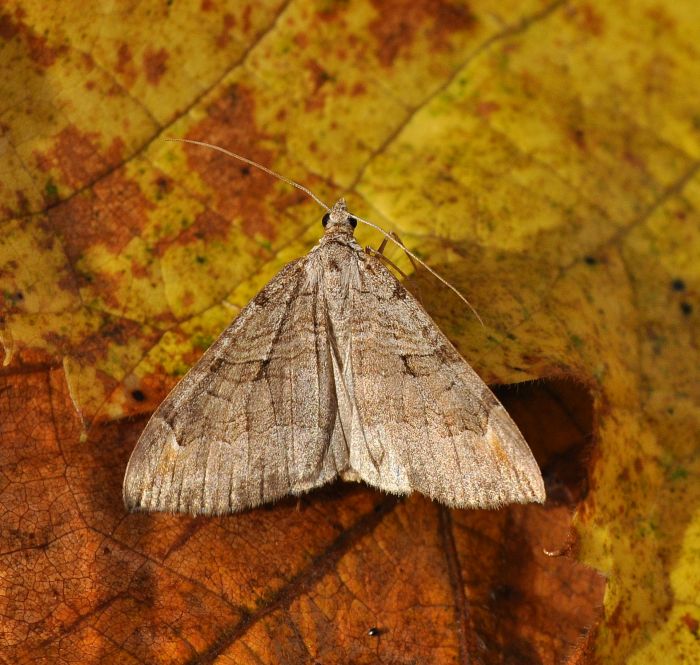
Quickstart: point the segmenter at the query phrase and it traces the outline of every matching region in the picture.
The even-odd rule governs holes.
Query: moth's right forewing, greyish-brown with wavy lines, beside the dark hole
[[[456,507],[544,501],[539,467],[506,410],[372,257],[360,260],[351,320],[350,464],[363,480]]]

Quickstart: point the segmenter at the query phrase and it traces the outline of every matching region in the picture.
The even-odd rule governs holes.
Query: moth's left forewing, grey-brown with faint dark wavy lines
[[[346,463],[327,454],[336,396],[307,267],[273,278],[153,414],[127,467],[127,507],[233,512],[328,482]]]

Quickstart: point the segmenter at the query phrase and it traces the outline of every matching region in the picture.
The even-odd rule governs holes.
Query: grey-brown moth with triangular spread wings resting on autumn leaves
[[[222,515],[337,478],[458,508],[543,502],[537,462],[506,410],[355,240],[358,219],[369,222],[343,199],[327,210],[318,244],[155,411],[126,469],[127,508]]]

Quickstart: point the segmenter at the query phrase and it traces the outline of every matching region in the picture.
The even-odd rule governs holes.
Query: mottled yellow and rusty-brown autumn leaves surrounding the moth
[[[0,662],[698,662],[699,44],[695,0],[0,2]],[[321,233],[165,136],[466,293],[485,328],[408,282],[548,504],[127,515],[148,414]]]

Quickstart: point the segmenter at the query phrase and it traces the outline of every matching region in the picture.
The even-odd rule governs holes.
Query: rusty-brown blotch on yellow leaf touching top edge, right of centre
[[[377,57],[385,67],[409,51],[419,32],[436,50],[448,48],[449,36],[471,29],[476,18],[465,5],[447,0],[372,0],[378,16],[369,28],[377,39]]]

